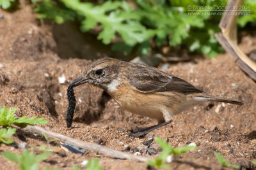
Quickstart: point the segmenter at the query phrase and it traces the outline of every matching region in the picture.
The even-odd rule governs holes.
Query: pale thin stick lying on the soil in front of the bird
[[[38,126],[27,125],[27,127],[25,127],[23,130],[40,135],[42,135],[42,133],[44,132],[45,134],[47,134],[49,138],[59,139],[60,141],[62,141],[63,143],[67,143],[68,145],[77,146],[78,148],[83,148],[84,150],[90,150],[92,152],[102,153],[103,155],[115,159],[138,160],[140,162],[146,162],[147,160],[150,160],[150,158],[147,157],[132,155],[130,153],[124,153],[117,150],[113,150],[106,146],[97,145],[94,143],[87,143],[84,141],[73,139],[56,132],[47,131],[46,129]]]

